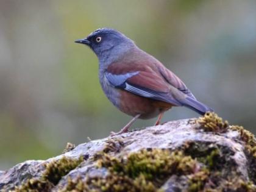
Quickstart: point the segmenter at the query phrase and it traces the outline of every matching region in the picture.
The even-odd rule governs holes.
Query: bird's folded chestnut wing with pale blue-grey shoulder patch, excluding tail
[[[157,69],[148,65],[113,63],[108,67],[105,77],[116,88],[177,106],[182,105],[179,100],[186,97],[182,91],[168,84]]]

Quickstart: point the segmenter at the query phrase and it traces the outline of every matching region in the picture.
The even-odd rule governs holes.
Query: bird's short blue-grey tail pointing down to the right
[[[200,115],[204,115],[206,112],[213,112],[212,108],[190,97],[187,97],[185,101],[182,102],[182,104],[185,107],[191,108]]]

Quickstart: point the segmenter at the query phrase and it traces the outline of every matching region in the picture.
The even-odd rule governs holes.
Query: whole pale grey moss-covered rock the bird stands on
[[[256,141],[214,113],[69,144],[0,171],[0,191],[256,191]]]

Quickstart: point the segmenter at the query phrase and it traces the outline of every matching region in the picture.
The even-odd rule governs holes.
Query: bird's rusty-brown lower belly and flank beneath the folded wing
[[[171,104],[154,99],[144,98],[125,90],[119,90],[119,109],[127,115],[141,114],[141,119],[150,119],[172,107]]]

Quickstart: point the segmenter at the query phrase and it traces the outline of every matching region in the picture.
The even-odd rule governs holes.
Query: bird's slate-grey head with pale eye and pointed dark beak
[[[100,64],[105,65],[114,62],[135,46],[133,41],[121,32],[107,28],[97,29],[88,37],[75,42],[89,46],[98,56]]]

